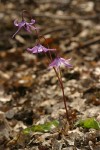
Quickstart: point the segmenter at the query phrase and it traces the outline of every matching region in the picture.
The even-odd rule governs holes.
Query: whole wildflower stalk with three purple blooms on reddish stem
[[[24,12],[22,12],[22,21],[21,22],[18,22],[18,20],[14,21],[14,25],[18,28],[18,30],[15,32],[15,34],[12,37],[14,38],[16,36],[16,34],[21,29],[25,29],[30,34],[34,30],[36,32],[36,34],[37,34],[37,37],[38,37],[38,43],[33,48],[27,48],[27,51],[32,53],[32,54],[46,53],[46,52],[49,51],[49,54],[50,54],[49,68],[53,68],[54,69],[54,71],[56,73],[56,76],[58,78],[58,81],[60,83],[60,87],[61,87],[62,94],[63,94],[64,106],[65,106],[65,110],[66,110],[66,116],[67,116],[67,119],[68,119],[69,116],[68,116],[68,110],[67,110],[67,105],[66,105],[66,98],[65,98],[65,94],[64,94],[64,87],[63,87],[62,79],[61,79],[61,76],[59,75],[59,72],[60,72],[60,67],[61,66],[65,66],[65,67],[68,67],[68,68],[72,67],[72,65],[70,64],[70,60],[71,59],[61,58],[60,56],[58,56],[58,54],[56,55],[56,53],[55,53],[56,49],[46,48],[43,45],[41,45],[38,28],[35,26],[35,23],[36,23],[36,21],[34,19],[31,19],[30,23],[25,21],[25,19],[24,19]],[[54,52],[55,56],[57,56],[54,60],[52,60],[51,52]]]

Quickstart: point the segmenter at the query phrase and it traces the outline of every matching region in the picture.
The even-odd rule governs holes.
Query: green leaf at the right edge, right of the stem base
[[[93,128],[93,129],[100,129],[100,122],[96,121],[95,118],[87,118],[85,120],[79,120],[75,123],[75,126],[81,126],[84,128]]]

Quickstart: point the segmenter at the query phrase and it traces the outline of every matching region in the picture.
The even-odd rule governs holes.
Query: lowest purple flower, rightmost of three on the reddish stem
[[[70,59],[64,59],[61,57],[57,57],[49,65],[49,68],[55,67],[55,68],[59,69],[60,66],[65,66],[65,67],[71,68],[72,65],[70,64],[70,60],[71,60],[71,58]]]

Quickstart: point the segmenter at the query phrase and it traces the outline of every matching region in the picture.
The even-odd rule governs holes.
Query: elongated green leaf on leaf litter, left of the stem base
[[[59,122],[57,120],[47,122],[44,124],[33,125],[23,130],[24,134],[29,134],[30,132],[48,132],[52,129],[58,127]]]

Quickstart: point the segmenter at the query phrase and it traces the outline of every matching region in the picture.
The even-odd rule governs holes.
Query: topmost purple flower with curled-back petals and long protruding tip
[[[35,20],[31,19],[31,22],[28,23],[25,20],[22,20],[21,22],[18,22],[18,20],[14,21],[14,25],[18,27],[18,30],[16,33],[12,36],[12,38],[21,30],[21,28],[24,28],[27,32],[31,33],[31,30],[35,30],[37,28],[33,27],[32,25],[35,23]]]

